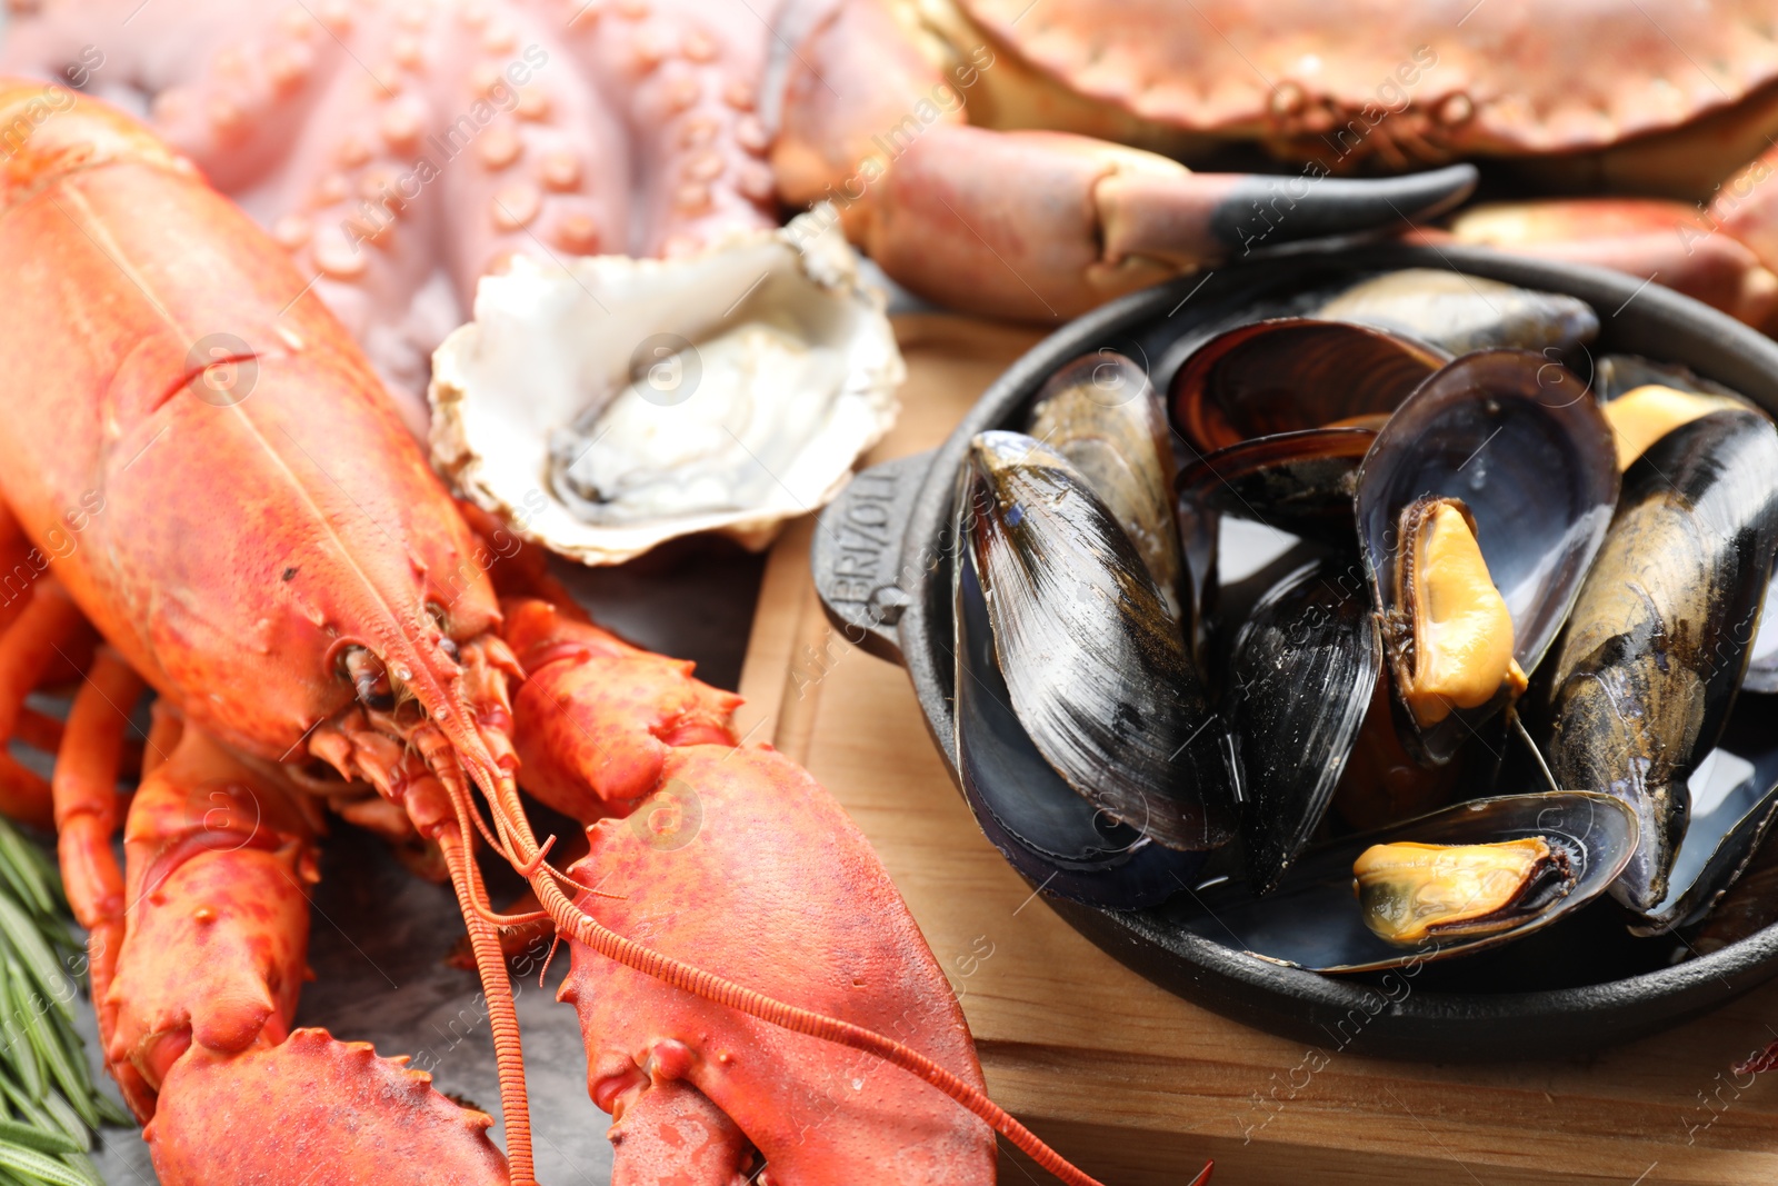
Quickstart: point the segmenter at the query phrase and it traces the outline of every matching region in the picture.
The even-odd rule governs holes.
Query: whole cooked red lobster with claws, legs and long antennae
[[[501,928],[544,918],[615,1182],[727,1186],[761,1159],[781,1186],[989,1182],[994,1131],[1092,1181],[987,1101],[839,805],[736,741],[736,697],[471,523],[283,249],[101,103],[0,80],[0,549],[21,585],[0,727],[82,674],[53,779],[5,763],[0,807],[53,818],[105,1060],[164,1182],[533,1181]],[[583,861],[551,864],[521,781],[590,825]],[[292,1031],[324,804],[443,859],[505,1156],[402,1060]],[[533,916],[493,910],[480,846]]]

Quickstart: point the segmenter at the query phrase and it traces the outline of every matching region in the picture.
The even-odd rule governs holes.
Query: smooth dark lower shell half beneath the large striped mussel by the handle
[[[989,841],[1044,893],[1133,910],[1189,885],[1202,852],[1152,843],[1086,802],[1044,759],[1012,709],[971,549],[958,549],[957,770]]]

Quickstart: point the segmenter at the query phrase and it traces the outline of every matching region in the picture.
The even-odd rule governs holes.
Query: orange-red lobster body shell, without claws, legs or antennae
[[[485,549],[340,324],[123,116],[16,84],[21,124],[0,493],[75,603],[194,725],[274,761],[352,701],[341,642],[448,683],[427,605],[457,638],[496,622]]]

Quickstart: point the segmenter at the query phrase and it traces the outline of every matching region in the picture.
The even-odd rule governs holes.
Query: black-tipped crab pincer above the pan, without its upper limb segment
[[[1410,226],[1474,183],[1470,165],[1374,181],[1191,172],[1063,132],[933,128],[868,197],[859,245],[928,299],[1054,320],[1259,247]]]

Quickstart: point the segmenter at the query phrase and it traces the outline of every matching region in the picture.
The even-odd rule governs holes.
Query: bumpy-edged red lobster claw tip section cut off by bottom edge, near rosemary
[[[188,1051],[167,1072],[146,1138],[165,1186],[505,1186],[491,1124],[364,1042],[297,1030],[228,1058]]]

